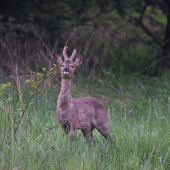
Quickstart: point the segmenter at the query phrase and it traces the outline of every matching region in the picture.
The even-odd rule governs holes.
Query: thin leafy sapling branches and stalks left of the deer
[[[18,94],[14,94],[14,99],[11,96],[12,95],[11,94],[12,87],[10,87],[11,83],[0,85],[0,101],[4,105],[4,106],[1,106],[1,105],[0,106],[1,106],[2,111],[6,113],[6,115],[8,116],[8,121],[5,126],[5,130],[8,127],[7,125],[9,124],[9,119],[11,117],[11,123],[15,124],[15,126],[13,125],[11,126],[13,126],[13,128],[15,129],[14,134],[16,135],[18,128],[21,128],[23,126],[22,119],[23,117],[25,117],[26,112],[30,111],[30,109],[33,108],[31,114],[29,115],[27,119],[25,127],[29,123],[33,113],[36,110],[40,97],[42,96],[44,91],[48,88],[49,84],[54,79],[54,77],[56,77],[58,73],[55,64],[54,64],[54,67],[51,68],[50,70],[43,68],[43,72],[44,73],[37,73],[37,80],[34,80],[32,78],[30,80],[26,80],[26,82],[29,83],[31,87],[33,88],[33,90],[30,91],[31,96],[28,101],[25,101],[25,100],[23,101],[23,95],[22,95],[21,88],[20,88],[20,80],[17,80]],[[41,86],[43,86],[43,88],[41,88]],[[9,91],[9,95],[5,94],[7,90]],[[17,95],[18,95],[18,99],[17,99]],[[38,95],[38,98],[36,99],[37,95]],[[13,104],[13,100],[15,100],[14,102],[15,104]],[[5,133],[6,131],[4,132],[4,135]],[[2,146],[3,146],[3,142],[4,142],[4,139],[2,141]],[[1,146],[1,149],[2,149],[2,146]]]

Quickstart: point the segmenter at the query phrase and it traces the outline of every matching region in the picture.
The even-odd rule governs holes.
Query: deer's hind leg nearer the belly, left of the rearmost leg
[[[94,138],[93,138],[93,133],[92,133],[94,128],[95,128],[94,126],[90,125],[86,129],[81,129],[81,131],[84,135],[84,138],[87,140],[87,142],[89,143],[90,146],[92,145],[92,143],[95,143]]]

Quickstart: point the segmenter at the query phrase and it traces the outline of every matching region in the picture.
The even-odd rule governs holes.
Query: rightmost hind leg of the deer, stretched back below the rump
[[[114,140],[112,138],[112,135],[110,133],[109,126],[107,123],[102,124],[102,125],[97,125],[96,128],[102,134],[104,138],[109,139],[111,143],[114,143]]]

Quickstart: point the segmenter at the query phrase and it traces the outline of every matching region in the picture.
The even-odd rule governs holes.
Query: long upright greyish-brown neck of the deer
[[[58,98],[58,107],[62,110],[67,109],[71,104],[70,86],[71,79],[62,79],[61,91]]]

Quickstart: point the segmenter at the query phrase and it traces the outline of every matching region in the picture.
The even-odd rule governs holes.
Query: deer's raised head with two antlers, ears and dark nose
[[[59,55],[58,53],[55,53],[55,56],[54,56],[55,62],[59,64],[61,67],[61,78],[62,79],[70,79],[74,74],[75,68],[81,65],[83,61],[83,54],[81,54],[73,62],[73,58],[77,52],[76,49],[73,50],[72,55],[70,56],[70,58],[68,58],[66,54],[67,48],[68,47],[65,46],[63,49],[64,61],[62,60],[61,55]]]

